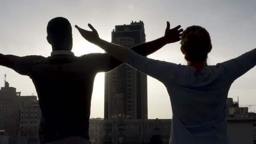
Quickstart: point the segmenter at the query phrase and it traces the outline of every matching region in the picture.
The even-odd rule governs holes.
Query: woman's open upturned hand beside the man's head
[[[88,24],[88,27],[90,27],[90,29],[92,31],[88,31],[85,29],[81,29],[80,27],[78,27],[77,25],[75,25],[75,28],[78,29],[78,31],[80,32],[80,34],[83,36],[83,38],[85,38],[85,40],[88,40],[88,42],[90,43],[96,43],[100,40],[99,38],[99,34],[96,31],[96,29],[93,28],[93,26],[91,24]]]

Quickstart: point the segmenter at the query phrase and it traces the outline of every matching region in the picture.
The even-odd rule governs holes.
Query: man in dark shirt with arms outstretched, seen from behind
[[[167,23],[168,31],[170,24]],[[84,32],[90,39],[95,32]],[[51,56],[13,56],[0,54],[0,65],[29,76],[36,88],[42,117],[40,142],[89,144],[89,118],[94,77],[115,69],[121,61],[107,53],[75,56],[72,53],[72,27],[63,17],[48,22],[47,40]],[[152,42],[131,48],[147,56],[168,43],[165,34]]]

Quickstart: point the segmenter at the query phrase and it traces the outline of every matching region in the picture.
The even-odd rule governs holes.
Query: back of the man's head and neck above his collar
[[[63,17],[51,19],[47,25],[47,40],[54,50],[72,49],[72,27]]]

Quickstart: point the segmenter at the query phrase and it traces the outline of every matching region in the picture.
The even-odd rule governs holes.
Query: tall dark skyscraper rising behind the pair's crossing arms
[[[132,47],[144,43],[143,21],[117,25],[112,43]],[[147,119],[147,75],[127,64],[105,74],[104,118]]]

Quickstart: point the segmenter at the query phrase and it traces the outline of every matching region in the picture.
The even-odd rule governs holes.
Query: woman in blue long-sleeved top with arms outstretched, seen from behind
[[[209,33],[200,26],[169,29],[171,41],[179,41],[187,65],[149,59],[132,50],[101,40],[89,41],[140,72],[162,82],[170,96],[173,111],[170,144],[229,144],[226,99],[231,84],[256,65],[256,49],[213,66],[207,64],[211,52]],[[85,36],[89,31],[77,27]],[[85,36],[86,38],[86,36]]]

